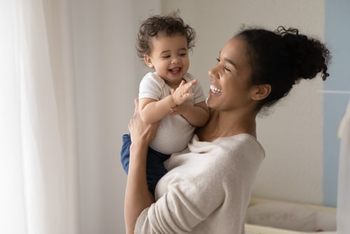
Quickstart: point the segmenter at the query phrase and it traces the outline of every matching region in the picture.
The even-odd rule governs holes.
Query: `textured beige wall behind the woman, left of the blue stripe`
[[[241,25],[276,29],[297,27],[323,39],[324,1],[319,0],[163,0],[162,12],[180,10],[197,31],[190,72],[209,90],[207,71],[223,43]],[[323,97],[321,78],[295,86],[269,116],[258,119],[258,140],[265,147],[265,163],[253,195],[322,203]]]

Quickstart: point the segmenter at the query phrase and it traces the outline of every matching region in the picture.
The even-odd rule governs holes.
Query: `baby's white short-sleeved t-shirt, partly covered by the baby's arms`
[[[189,82],[193,81],[195,78],[187,73],[183,76],[183,79]],[[149,72],[142,78],[140,83],[139,99],[151,98],[159,101],[169,96],[170,90],[172,90],[172,88],[170,88],[158,74]],[[186,100],[186,102],[191,102],[195,105],[205,101],[206,97],[199,83],[193,86],[192,92],[195,95]],[[182,116],[165,116],[165,118],[162,118],[162,121],[160,121],[157,135],[150,146],[152,149],[165,154],[182,151],[186,148],[190,139],[192,139],[194,131],[195,127],[188,123]]]

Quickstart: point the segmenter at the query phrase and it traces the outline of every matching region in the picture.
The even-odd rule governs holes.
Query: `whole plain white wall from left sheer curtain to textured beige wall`
[[[134,47],[158,0],[72,0],[82,234],[125,233],[122,135],[146,67]]]

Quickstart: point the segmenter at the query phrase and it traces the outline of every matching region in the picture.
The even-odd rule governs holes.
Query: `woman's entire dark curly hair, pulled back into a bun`
[[[279,26],[274,32],[261,29],[243,29],[236,37],[243,39],[253,70],[252,84],[269,84],[272,90],[260,102],[259,109],[272,106],[288,95],[300,79],[314,78],[327,73],[330,51],[317,39],[308,38],[294,28]]]

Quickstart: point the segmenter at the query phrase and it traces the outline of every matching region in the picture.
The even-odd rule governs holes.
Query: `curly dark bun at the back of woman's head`
[[[286,29],[279,26],[275,33],[284,39],[289,48],[293,64],[292,74],[296,80],[314,78],[319,72],[323,81],[329,76],[327,64],[330,60],[330,52],[323,43],[299,34],[299,31],[294,28]]]

